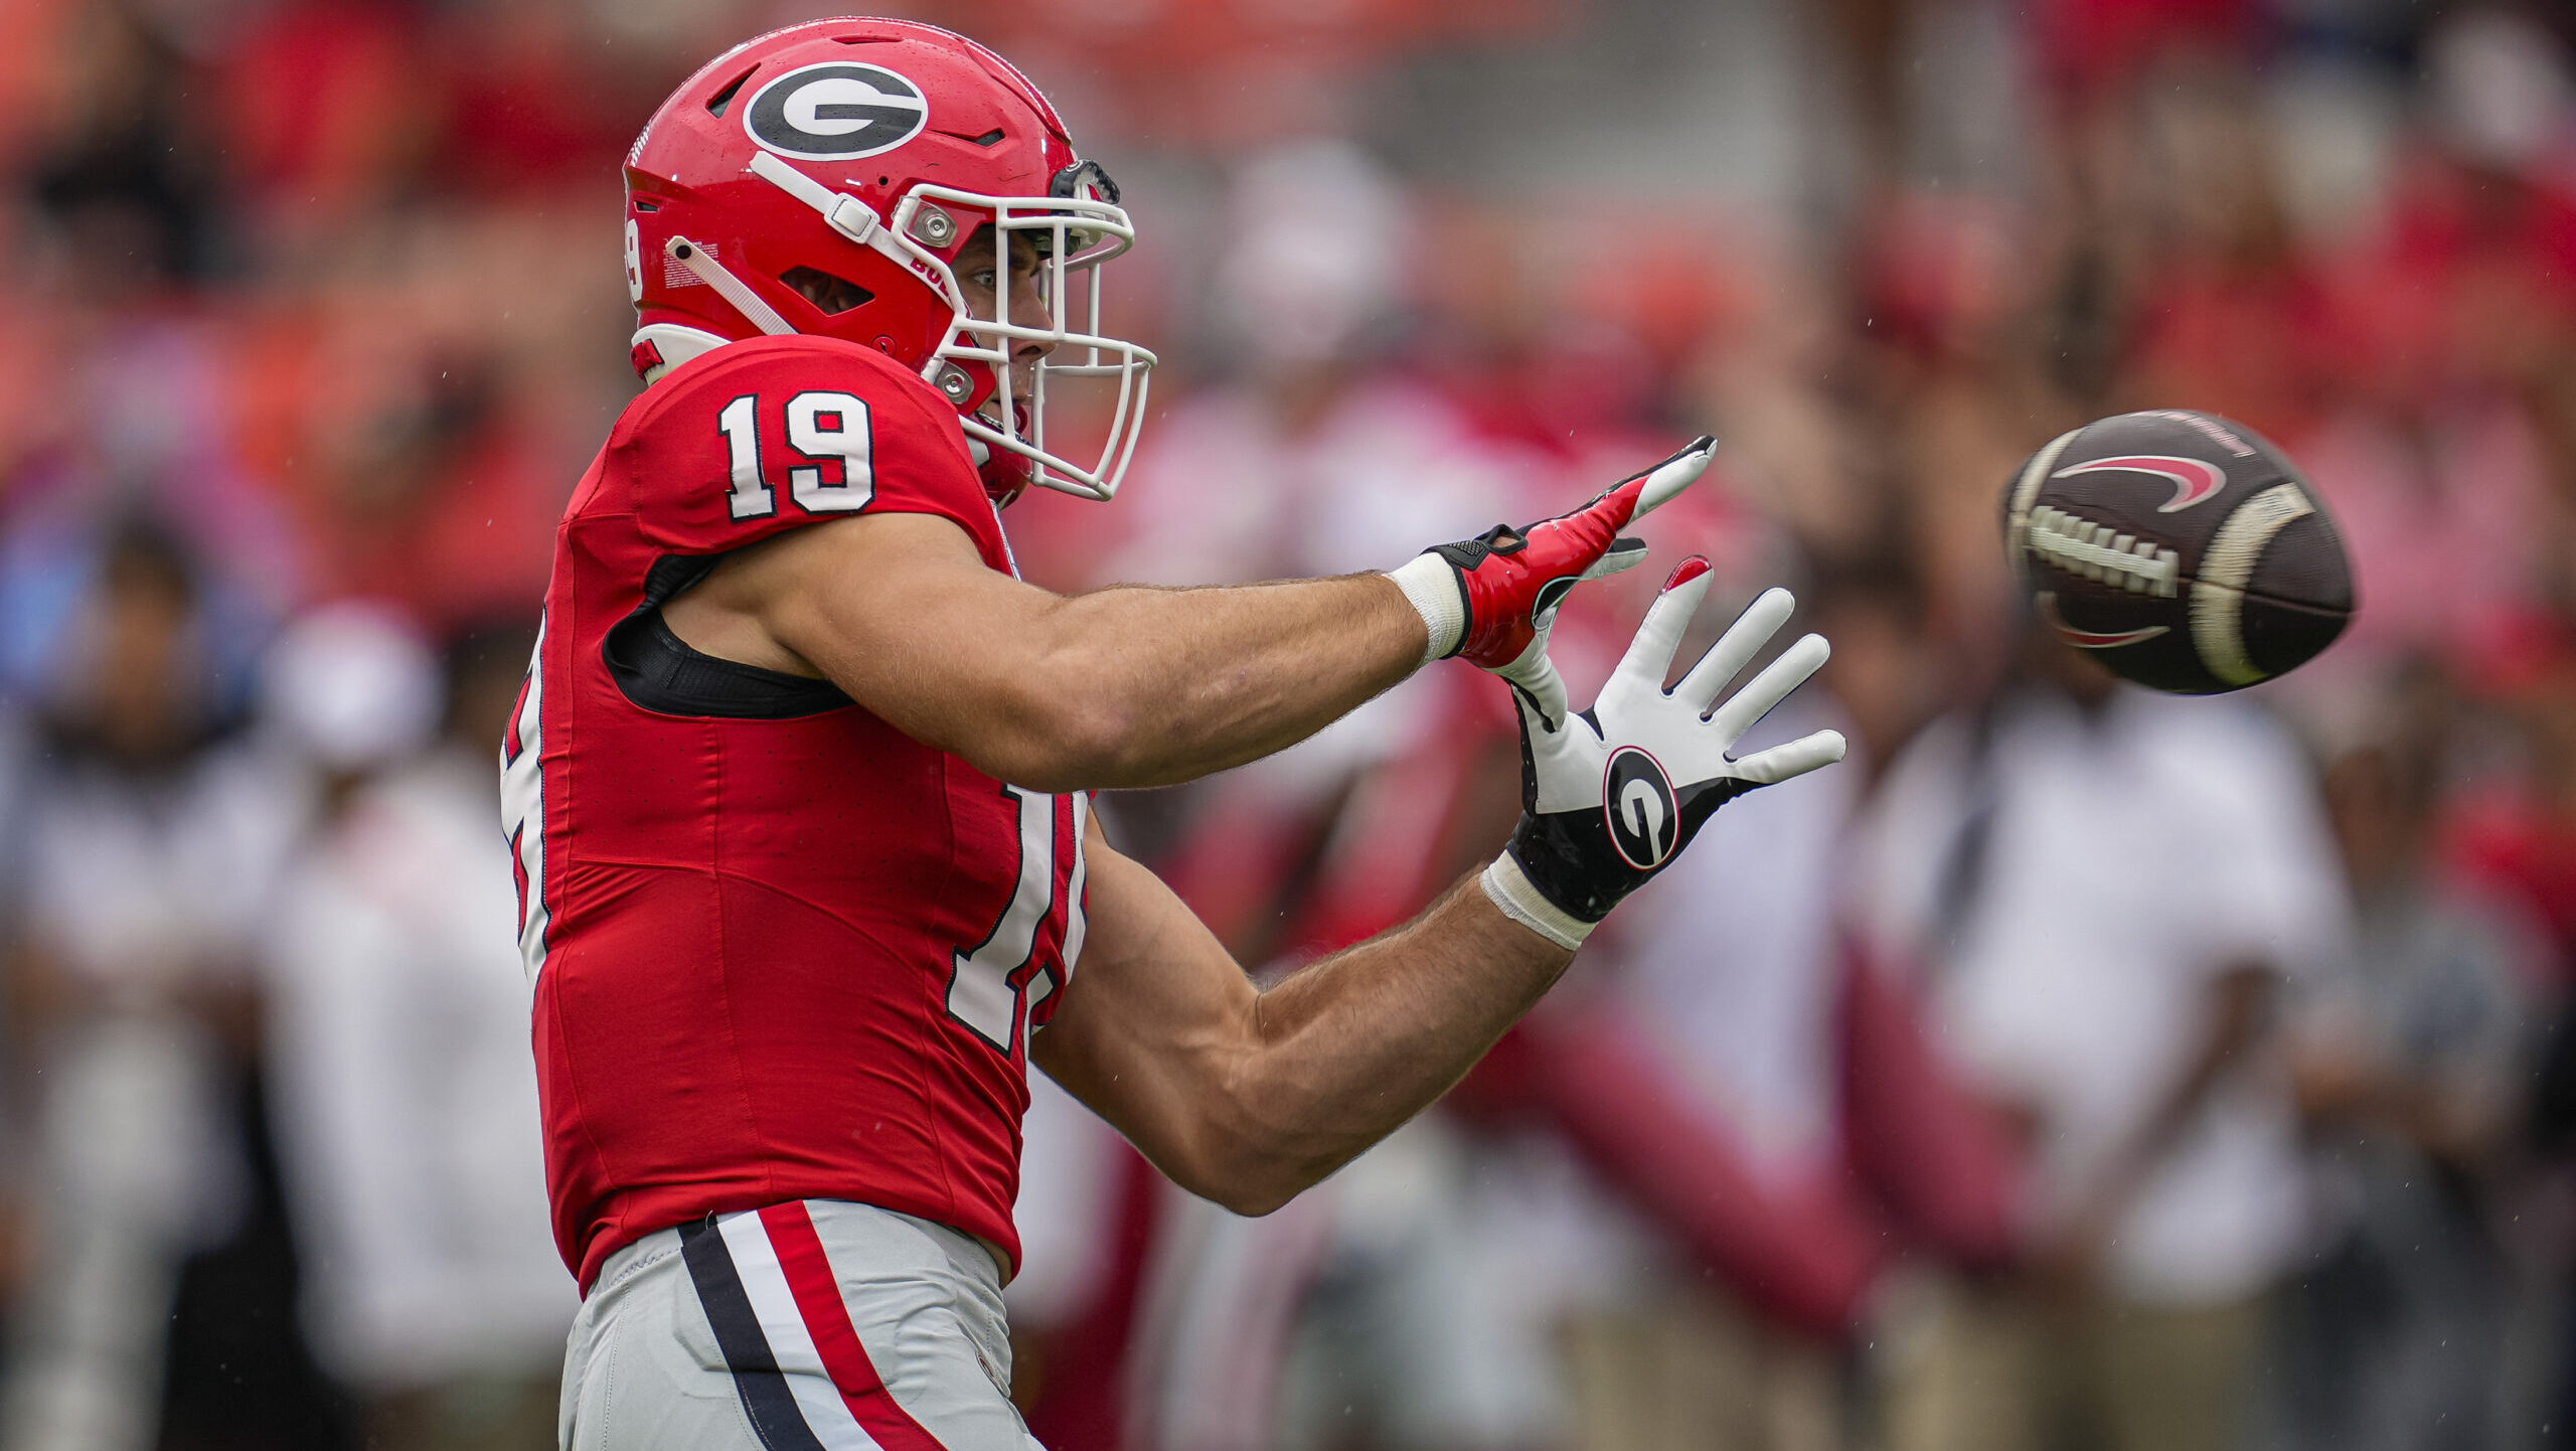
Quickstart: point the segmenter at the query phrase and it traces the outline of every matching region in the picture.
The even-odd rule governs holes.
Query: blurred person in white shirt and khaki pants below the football
[[[2308,1240],[2285,1023],[2352,936],[2300,750],[2032,621],[2020,675],[1891,768],[1862,850],[1870,930],[1927,964],[2035,1168],[2025,1271],[1901,1350],[1888,1446],[2231,1446]]]

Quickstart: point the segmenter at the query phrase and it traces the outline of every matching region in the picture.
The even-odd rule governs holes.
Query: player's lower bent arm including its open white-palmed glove
[[[1842,758],[1834,732],[1728,755],[1824,665],[1824,639],[1806,637],[1726,696],[1788,619],[1783,590],[1664,691],[1705,590],[1705,564],[1685,562],[1589,711],[1551,719],[1520,696],[1522,820],[1481,879],[1267,992],[1095,827],[1090,936],[1030,1041],[1038,1067],[1175,1183],[1242,1214],[1278,1209],[1419,1113],[1723,802]]]

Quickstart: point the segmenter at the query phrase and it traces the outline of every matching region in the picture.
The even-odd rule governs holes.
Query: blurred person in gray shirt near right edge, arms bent
[[[2524,1095],[2537,943],[2432,874],[2439,740],[2406,706],[2326,771],[2357,938],[2298,1062],[2336,1235],[2282,1304],[2290,1446],[2496,1438],[2512,1291],[2488,1214]]]

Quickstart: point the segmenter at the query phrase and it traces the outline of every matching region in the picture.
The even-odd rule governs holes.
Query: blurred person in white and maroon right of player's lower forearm
[[[1625,1209],[1584,1227],[1625,1240],[1592,1255],[1623,1273],[1564,1307],[1584,1451],[1865,1443],[1847,1353],[1901,1255],[1989,1271],[2012,1247],[2002,1126],[1847,928],[1855,822],[1932,698],[1922,590],[1886,559],[1814,598],[1847,644],[1765,735],[1832,724],[1852,760],[1739,804],[1747,830],[1638,892],[1595,992],[1520,1031],[1522,1093]]]

